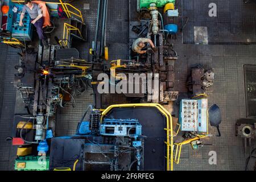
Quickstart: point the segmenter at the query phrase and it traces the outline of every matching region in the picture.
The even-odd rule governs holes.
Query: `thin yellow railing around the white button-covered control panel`
[[[193,98],[193,99],[201,99],[201,98],[207,98],[207,97],[208,97],[207,94],[198,94],[198,95],[196,95],[195,97],[192,97],[192,98]],[[208,111],[207,111],[207,134],[205,134],[205,135],[196,134],[194,138],[186,139],[186,140],[184,140],[183,142],[180,142],[180,143],[174,143],[174,145],[175,145],[175,147],[176,147],[176,148],[175,148],[176,151],[175,151],[174,162],[175,162],[176,164],[179,164],[179,162],[180,162],[181,148],[182,148],[182,146],[183,146],[184,144],[189,144],[189,143],[191,143],[191,142],[193,142],[193,141],[195,141],[195,140],[199,140],[199,139],[201,139],[201,138],[207,138],[207,137],[209,137],[209,133],[208,133],[208,118],[209,118],[209,113],[208,113]]]

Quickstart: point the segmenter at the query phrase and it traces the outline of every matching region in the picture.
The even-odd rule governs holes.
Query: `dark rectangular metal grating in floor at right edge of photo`
[[[256,117],[256,65],[244,65],[247,117]]]

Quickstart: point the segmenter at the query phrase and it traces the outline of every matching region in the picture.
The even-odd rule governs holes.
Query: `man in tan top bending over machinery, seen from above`
[[[133,52],[137,52],[139,54],[143,54],[146,53],[147,51],[142,51],[142,49],[144,47],[146,47],[146,43],[149,43],[150,46],[152,47],[152,49],[154,51],[156,51],[156,47],[154,45],[154,43],[152,42],[151,39],[147,39],[147,38],[138,38],[134,41],[133,46],[131,46],[131,49],[133,50]]]

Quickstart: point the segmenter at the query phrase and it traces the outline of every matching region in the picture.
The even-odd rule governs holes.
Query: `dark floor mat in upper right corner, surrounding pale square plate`
[[[216,16],[209,16],[210,3],[216,5]],[[189,18],[183,43],[194,44],[194,27],[207,27],[209,44],[255,44],[255,10],[254,1],[182,0],[182,16]]]

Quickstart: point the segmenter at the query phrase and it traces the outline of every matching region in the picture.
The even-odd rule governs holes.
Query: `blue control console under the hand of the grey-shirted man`
[[[11,36],[18,40],[32,40],[32,24],[30,15],[24,14],[23,27],[19,26],[20,14],[24,5],[18,5],[13,2],[9,2],[9,12],[7,17],[6,30],[11,32]]]

